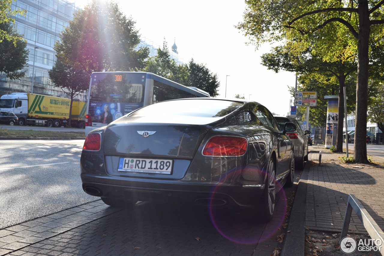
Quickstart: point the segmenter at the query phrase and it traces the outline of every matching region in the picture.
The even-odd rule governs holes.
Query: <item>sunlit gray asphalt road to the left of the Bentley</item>
[[[95,201],[84,193],[84,140],[2,140],[0,229]]]

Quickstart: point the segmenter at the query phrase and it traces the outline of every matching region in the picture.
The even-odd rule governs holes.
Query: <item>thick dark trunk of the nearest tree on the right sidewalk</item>
[[[368,1],[358,1],[359,38],[358,38],[358,79],[356,85],[356,123],[355,123],[355,161],[368,163],[367,159],[367,94],[368,94],[368,47],[369,13]]]

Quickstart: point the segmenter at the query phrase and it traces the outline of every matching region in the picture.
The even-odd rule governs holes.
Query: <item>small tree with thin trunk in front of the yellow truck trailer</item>
[[[51,85],[61,88],[71,99],[70,116],[68,120],[68,126],[71,127],[73,99],[79,93],[88,90],[89,75],[85,70],[66,65],[60,60],[55,62],[55,66],[53,66],[52,70],[48,71],[48,74]]]

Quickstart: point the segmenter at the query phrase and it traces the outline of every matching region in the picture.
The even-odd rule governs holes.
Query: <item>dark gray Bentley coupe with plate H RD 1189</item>
[[[281,185],[293,185],[286,123],[247,100],[162,101],[91,131],[81,153],[83,190],[110,206],[137,201],[252,208],[269,221]]]

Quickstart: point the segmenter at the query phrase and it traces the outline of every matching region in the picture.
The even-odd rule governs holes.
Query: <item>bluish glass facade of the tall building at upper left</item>
[[[12,2],[12,10],[26,10],[26,16],[15,16],[15,28],[24,35],[29,50],[28,67],[25,76],[20,80],[10,80],[5,74],[0,74],[0,95],[13,92],[31,92],[32,72],[35,66],[33,79],[33,93],[67,97],[65,93],[49,83],[48,71],[55,62],[53,46],[60,40],[59,33],[69,25],[74,13],[80,8],[74,1],[66,0],[16,0]],[[84,95],[78,96],[79,100]]]

